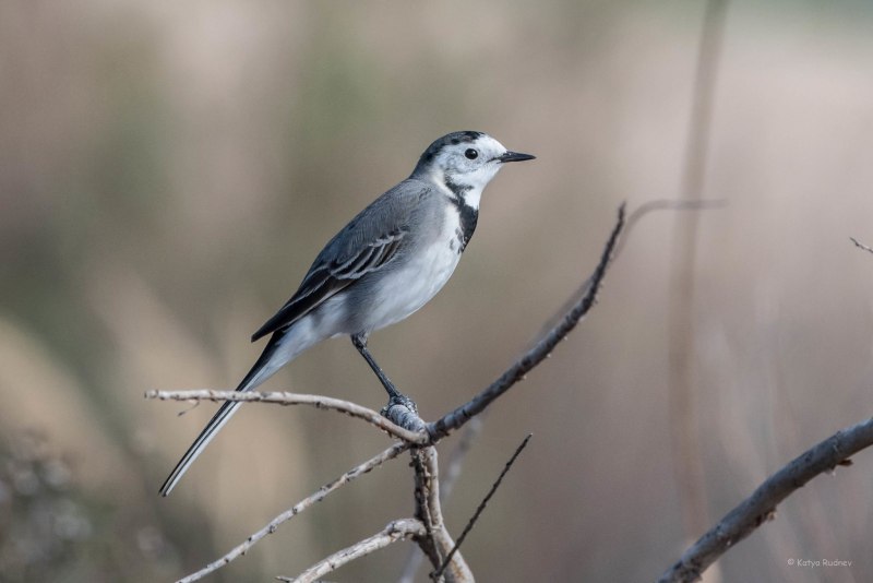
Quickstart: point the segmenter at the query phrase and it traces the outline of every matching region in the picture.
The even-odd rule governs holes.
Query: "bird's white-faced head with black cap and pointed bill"
[[[412,171],[412,178],[427,178],[444,185],[456,197],[478,206],[482,189],[501,166],[534,157],[510,152],[487,133],[453,132],[428,146]]]

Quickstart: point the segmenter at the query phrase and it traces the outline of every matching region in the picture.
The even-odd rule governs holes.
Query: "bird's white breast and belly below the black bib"
[[[461,218],[453,204],[445,205],[435,240],[412,253],[403,269],[386,275],[380,286],[383,301],[373,306],[368,320],[378,330],[407,318],[442,289],[461,259],[457,233]]]

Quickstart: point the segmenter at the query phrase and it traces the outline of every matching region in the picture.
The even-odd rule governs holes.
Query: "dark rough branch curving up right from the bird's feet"
[[[515,383],[523,380],[534,367],[549,357],[558,344],[578,324],[579,320],[588,313],[597,299],[600,284],[607,274],[607,269],[612,263],[613,251],[619,236],[624,228],[624,204],[619,206],[619,216],[612,233],[607,240],[600,262],[591,275],[587,291],[564,313],[560,322],[549,330],[537,344],[522,355],[501,377],[487,389],[473,397],[469,402],[444,415],[441,419],[428,426],[428,432],[435,442],[450,432],[459,428],[474,416],[486,409],[500,395],[509,391]]]

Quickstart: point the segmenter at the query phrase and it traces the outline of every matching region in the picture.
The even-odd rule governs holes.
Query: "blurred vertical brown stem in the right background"
[[[727,0],[706,2],[694,75],[691,120],[685,142],[682,199],[697,201],[703,194],[709,127],[713,118],[718,59],[721,50]],[[685,533],[699,532],[708,523],[702,455],[698,448],[696,393],[693,390],[694,263],[697,253],[697,213],[678,225],[673,238],[670,279],[669,397],[673,469],[681,499]]]

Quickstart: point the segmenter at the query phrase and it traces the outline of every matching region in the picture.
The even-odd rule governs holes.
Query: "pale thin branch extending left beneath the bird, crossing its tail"
[[[427,433],[416,433],[398,427],[388,419],[382,417],[373,409],[369,409],[350,401],[333,398],[322,395],[307,395],[287,392],[261,393],[256,391],[213,391],[201,389],[196,391],[146,391],[145,398],[158,398],[160,401],[243,401],[252,403],[278,403],[280,405],[310,405],[318,409],[338,411],[351,417],[362,419],[370,425],[376,426],[386,433],[402,439],[409,443],[427,443]]]

